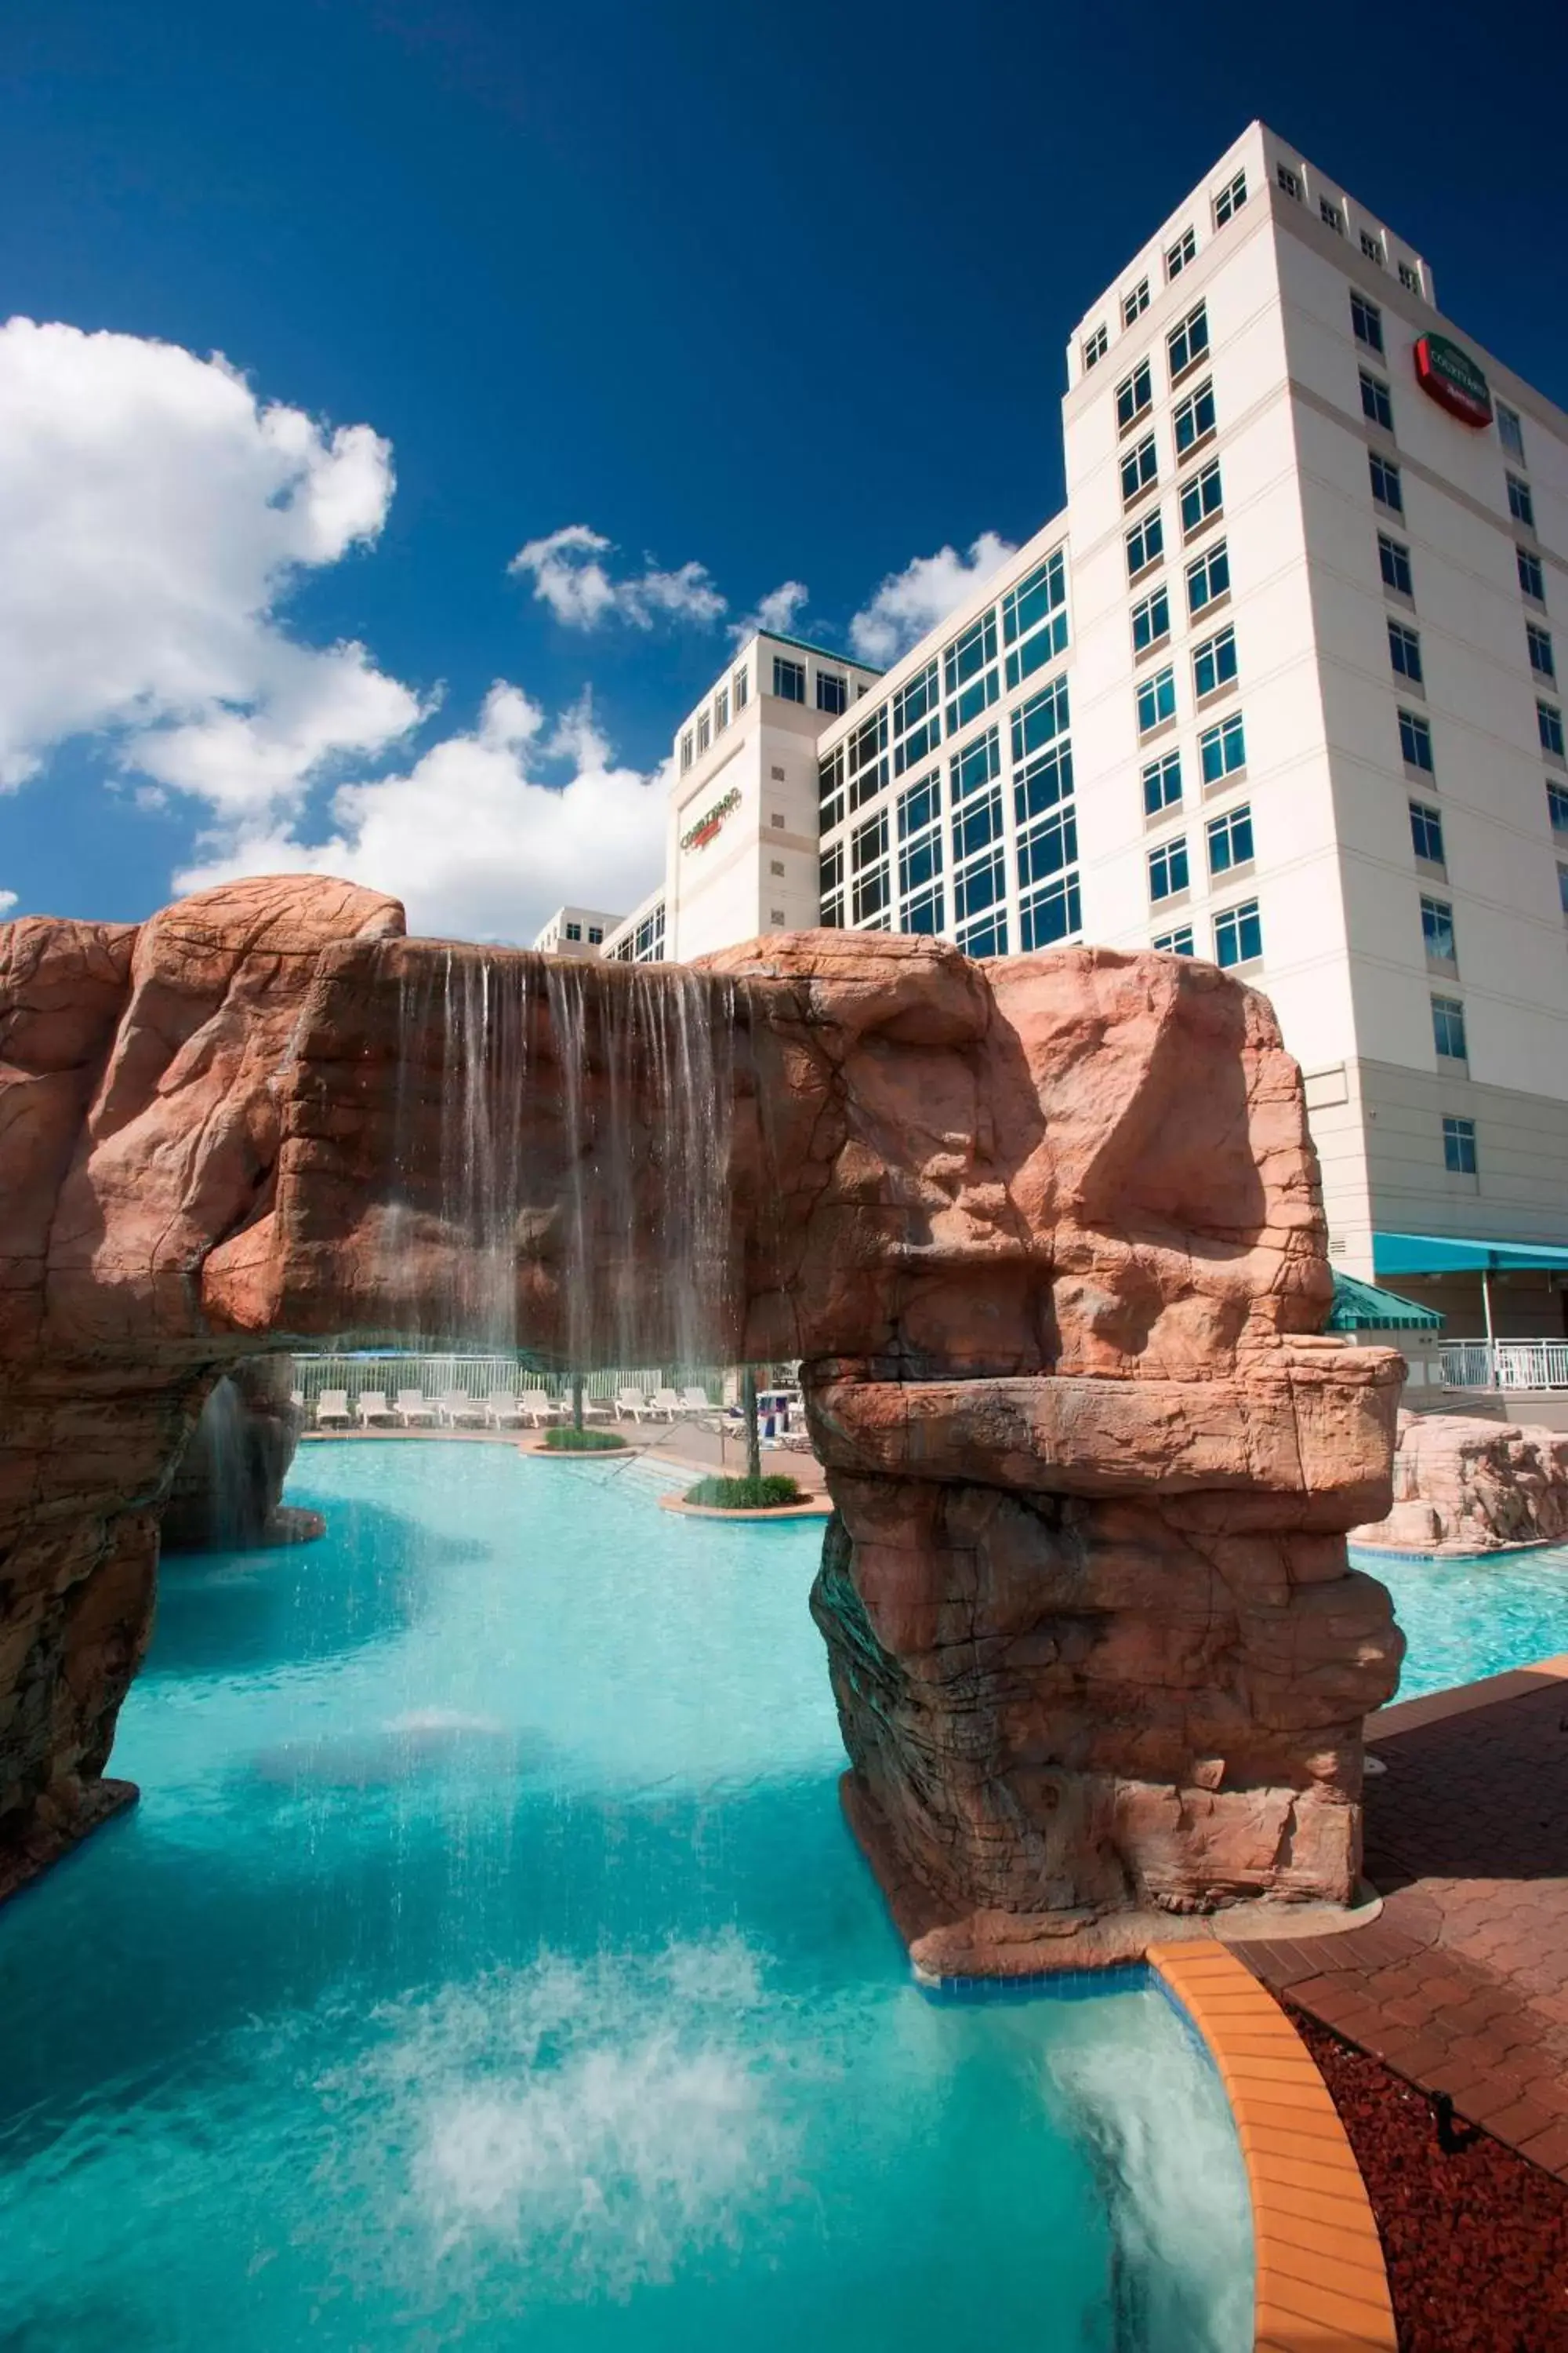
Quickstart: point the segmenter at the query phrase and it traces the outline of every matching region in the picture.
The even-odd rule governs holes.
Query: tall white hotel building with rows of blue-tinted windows
[[[1063,433],[1063,513],[886,675],[736,654],[602,953],[1213,958],[1307,1075],[1335,1266],[1561,1337],[1568,416],[1253,122],[1079,320]]]

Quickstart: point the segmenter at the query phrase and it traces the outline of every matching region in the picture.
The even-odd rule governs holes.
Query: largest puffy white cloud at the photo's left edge
[[[393,454],[369,426],[263,407],[223,358],[12,318],[0,327],[0,788],[68,736],[261,824],[423,715],[362,645],[277,609],[371,544]]]

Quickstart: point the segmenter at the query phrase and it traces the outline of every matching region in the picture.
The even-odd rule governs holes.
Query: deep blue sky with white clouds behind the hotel
[[[729,628],[795,581],[844,642],[889,574],[1027,536],[1070,325],[1251,115],[1568,400],[1561,5],[1486,54],[1408,0],[31,19],[0,311],[110,341],[0,336],[14,913],[334,845],[421,929],[646,887]],[[562,619],[569,527],[607,546]]]

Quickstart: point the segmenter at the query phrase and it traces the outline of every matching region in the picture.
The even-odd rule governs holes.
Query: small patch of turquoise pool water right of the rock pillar
[[[1568,1649],[1568,1546],[1486,1560],[1349,1558],[1394,1595],[1394,1617],[1410,1645],[1399,1699],[1446,1692]]]

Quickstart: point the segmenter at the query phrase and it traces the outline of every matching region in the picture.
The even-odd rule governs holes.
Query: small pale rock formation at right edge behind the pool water
[[[1469,1414],[1401,1414],[1394,1508],[1352,1541],[1462,1558],[1568,1539],[1568,1433]]]

